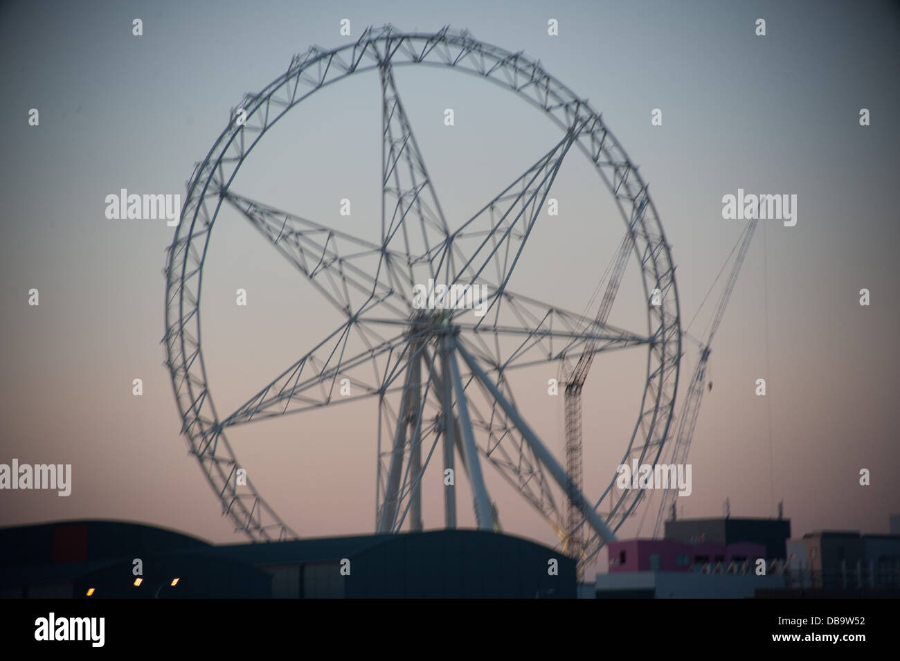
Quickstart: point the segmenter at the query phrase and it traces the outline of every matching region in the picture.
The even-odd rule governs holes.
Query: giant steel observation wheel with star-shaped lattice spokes
[[[394,81],[395,67],[411,65],[481,76],[543,110],[563,131],[556,145],[459,228],[452,229],[441,210]],[[244,159],[286,112],[326,85],[370,71],[380,76],[383,92],[380,242],[249,200],[232,189]],[[659,458],[670,429],[681,355],[674,267],[647,186],[599,113],[520,52],[484,44],[466,31],[401,33],[390,26],[370,28],[337,49],[312,47],[295,56],[284,75],[247,95],[239,107],[246,121],[229,123],[187,183],[181,223],[168,250],[163,340],[182,432],[220,496],[223,513],[253,540],[296,536],[251,481],[238,487],[229,427],[374,397],[379,405],[377,531],[399,531],[405,522],[410,530],[422,528],[420,481],[443,439],[442,468],[454,468],[456,456],[462,460],[480,527],[498,525],[482,478],[486,460],[561,540],[569,532],[566,498],[575,503],[586,531],[581,562],[594,558],[605,541],[615,539],[642,492],[618,489],[611,470],[608,487],[589,501],[528,427],[506,377],[520,367],[585,352],[647,347],[640,414],[622,462]],[[572,147],[596,166],[625,221],[643,280],[646,334],[599,323],[508,287]],[[212,403],[200,327],[203,263],[222,205],[238,210],[345,319],[228,415],[219,415]],[[466,310],[414,308],[409,292],[428,279],[486,287],[487,314],[467,322]],[[654,289],[661,290],[662,305],[650,303]],[[348,379],[356,395],[337,397],[340,379]],[[559,503],[553,482],[562,489]],[[446,489],[446,525],[455,526],[455,518],[455,491]]]

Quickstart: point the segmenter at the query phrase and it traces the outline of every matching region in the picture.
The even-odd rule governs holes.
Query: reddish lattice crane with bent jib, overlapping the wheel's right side
[[[628,225],[626,235],[618,247],[612,271],[609,273],[607,290],[603,294],[597,318],[594,320],[595,328],[602,328],[607,323],[609,310],[613,307],[619,284],[622,281],[622,276],[625,274],[628,255],[631,253],[635,243],[635,225],[641,219],[645,205],[646,198],[635,211]],[[596,350],[597,340],[591,337],[585,342],[584,351],[581,353],[578,363],[565,380],[565,462],[566,470],[572,479],[572,493],[566,495],[568,496],[568,508],[566,511],[566,539],[563,540],[563,551],[568,556],[576,558],[576,560],[581,560],[584,555],[584,540],[580,530],[581,523],[584,522],[584,514],[581,513],[581,508],[575,498],[575,494],[581,491],[582,483],[581,388],[584,386],[584,381],[588,378],[590,363],[594,360]],[[579,572],[581,572],[581,562],[579,562]]]

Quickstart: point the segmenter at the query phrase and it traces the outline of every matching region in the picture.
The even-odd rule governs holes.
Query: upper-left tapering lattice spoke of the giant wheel
[[[397,318],[409,315],[409,300],[379,278],[389,268],[380,269],[381,246],[235,192],[221,195],[342,313],[358,315],[375,302]]]

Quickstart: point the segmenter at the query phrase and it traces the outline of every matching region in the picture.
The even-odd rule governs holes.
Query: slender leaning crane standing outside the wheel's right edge
[[[700,358],[697,363],[697,369],[694,371],[694,376],[690,380],[690,384],[688,387],[688,396],[685,397],[684,406],[682,406],[681,408],[678,432],[675,434],[675,444],[671,454],[672,463],[674,463],[676,466],[683,464],[688,458],[690,440],[691,438],[693,438],[694,428],[697,426],[697,416],[700,412],[700,400],[703,398],[703,387],[707,379],[707,362],[709,362],[710,352],[709,347],[713,342],[713,337],[716,335],[716,330],[718,330],[719,325],[722,323],[722,317],[725,314],[725,306],[728,305],[728,299],[731,298],[732,291],[734,290],[734,283],[737,281],[738,272],[741,271],[743,259],[747,255],[747,249],[750,247],[750,241],[753,237],[753,232],[756,230],[756,223],[757,219],[750,220],[750,222],[747,223],[747,227],[744,228],[742,236],[738,238],[738,244],[740,245],[740,248],[738,249],[737,256],[734,258],[734,266],[732,266],[732,270],[728,275],[728,281],[725,283],[725,289],[722,290],[722,294],[719,297],[719,302],[716,305],[716,311],[713,313],[711,326],[709,327],[709,333],[707,334],[706,339],[700,341],[699,343]],[[734,250],[732,252],[734,253]],[[725,264],[727,264],[727,261],[725,262]],[[725,266],[722,267],[722,270],[725,271]],[[721,275],[722,272],[719,272],[719,276]],[[716,281],[718,281],[718,276],[716,277]],[[713,282],[713,287],[716,286],[716,281]],[[708,295],[709,294],[707,293],[707,296]],[[712,381],[709,382],[709,389],[713,389]],[[653,537],[659,537],[660,532],[662,531],[663,517],[665,516],[667,510],[671,509],[672,519],[674,520],[675,498],[677,496],[678,489],[670,488],[662,491],[662,504],[660,505],[660,512],[656,517],[656,525],[653,528]]]

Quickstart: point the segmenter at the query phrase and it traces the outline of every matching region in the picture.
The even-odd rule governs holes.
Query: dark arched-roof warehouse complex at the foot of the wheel
[[[534,599],[574,598],[576,579],[560,552],[486,531],[212,545],[136,523],[0,529],[0,597],[87,598],[92,588],[90,598],[119,599]]]

